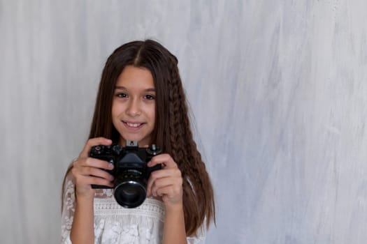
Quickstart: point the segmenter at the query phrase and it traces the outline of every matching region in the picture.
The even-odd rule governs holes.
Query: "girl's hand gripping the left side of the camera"
[[[94,197],[96,190],[92,185],[108,185],[113,187],[113,176],[103,169],[113,169],[113,165],[107,161],[89,158],[92,146],[110,145],[112,141],[103,137],[89,139],[77,160],[73,162],[71,174],[75,184],[77,197]]]

